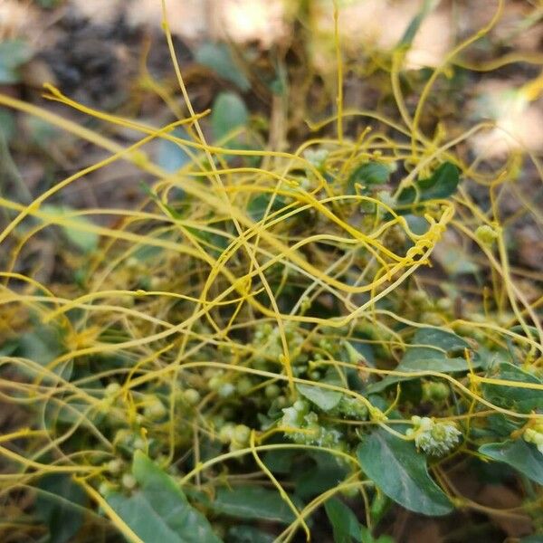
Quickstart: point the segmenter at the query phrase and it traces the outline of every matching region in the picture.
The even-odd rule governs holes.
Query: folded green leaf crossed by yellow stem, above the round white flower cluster
[[[439,371],[453,373],[469,371],[470,364],[463,357],[452,357],[452,353],[462,352],[470,344],[453,332],[443,329],[417,329],[411,340],[411,346],[395,367],[396,371],[418,372]],[[443,352],[444,351],[444,352]],[[474,357],[471,367],[481,367],[481,358]],[[367,387],[367,392],[375,394],[387,386],[405,381],[410,377],[386,376],[382,381]]]

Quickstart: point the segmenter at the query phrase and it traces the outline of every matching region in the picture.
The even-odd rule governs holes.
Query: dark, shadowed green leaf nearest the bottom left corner
[[[36,514],[49,528],[48,543],[67,543],[83,524],[85,492],[69,475],[45,475],[37,485]]]

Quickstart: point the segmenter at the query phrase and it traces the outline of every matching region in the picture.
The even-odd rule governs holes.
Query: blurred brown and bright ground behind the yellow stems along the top
[[[408,43],[399,80],[407,110],[433,69],[447,66],[425,105],[424,133],[453,138],[491,120],[495,127],[470,138],[463,156],[493,171],[507,166],[519,181],[511,190],[537,207],[540,176],[526,157],[543,152],[543,3],[506,0],[489,33],[447,58],[499,9],[497,0],[339,0],[345,108],[401,124],[390,71],[398,45]],[[167,0],[167,13],[195,110],[216,112],[203,122],[211,140],[246,127],[246,145],[281,150],[326,134],[311,123],[335,111],[332,0]],[[153,126],[186,115],[161,21],[160,0],[0,0],[0,92],[127,145],[137,133],[44,100],[43,82],[86,106]],[[347,136],[357,138],[372,121],[352,116],[345,124]],[[2,107],[0,134],[0,191],[23,203],[107,156]],[[148,153],[169,171],[187,159],[161,140]],[[57,204],[132,206],[144,195],[142,181],[148,179],[135,167],[117,161],[67,187]],[[502,205],[514,214],[520,201],[515,195]],[[516,237],[520,263],[543,269],[537,227],[520,224]]]

